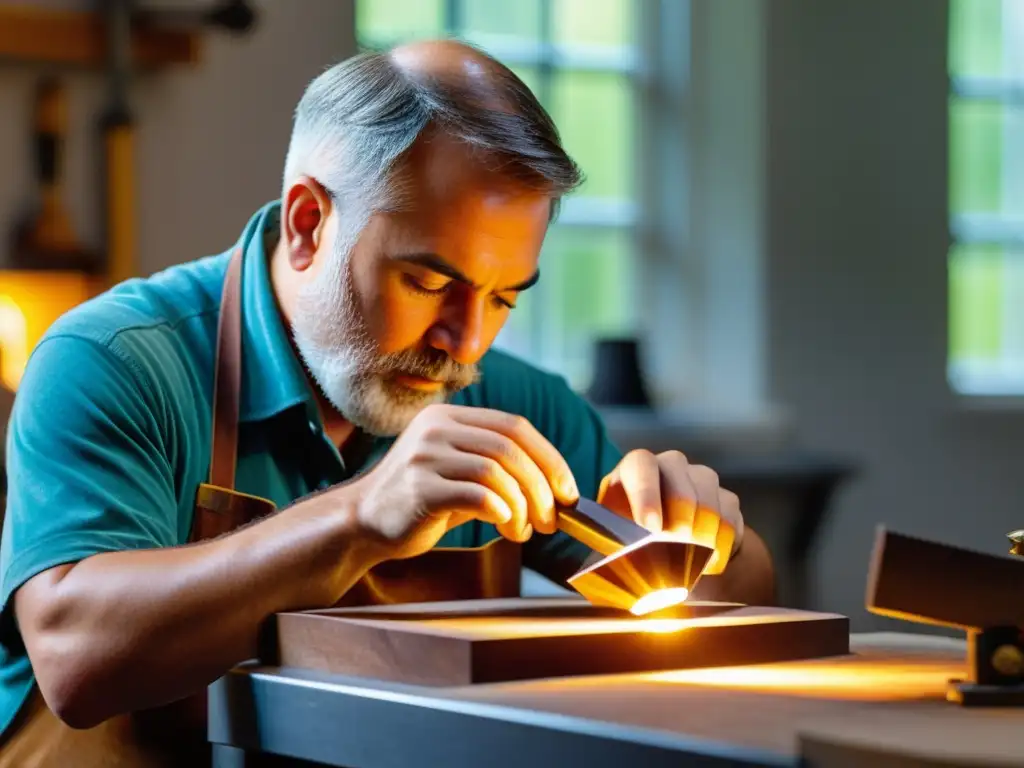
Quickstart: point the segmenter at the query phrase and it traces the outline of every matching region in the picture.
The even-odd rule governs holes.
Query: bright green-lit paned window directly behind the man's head
[[[511,67],[553,117],[586,181],[567,199],[496,346],[583,388],[599,336],[634,332],[635,0],[357,0],[361,48],[454,36]]]

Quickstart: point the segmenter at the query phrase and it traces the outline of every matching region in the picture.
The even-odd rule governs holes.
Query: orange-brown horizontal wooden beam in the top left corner
[[[199,35],[135,27],[132,62],[141,70],[199,61]],[[0,59],[101,68],[106,61],[102,14],[0,4]]]

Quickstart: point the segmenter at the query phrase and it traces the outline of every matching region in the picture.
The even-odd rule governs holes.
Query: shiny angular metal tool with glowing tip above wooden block
[[[595,605],[645,615],[686,600],[714,554],[671,534],[652,534],[589,499],[557,510],[558,528],[604,557],[569,578]]]

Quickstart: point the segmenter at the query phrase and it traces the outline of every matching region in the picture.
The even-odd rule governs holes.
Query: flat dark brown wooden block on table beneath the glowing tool
[[[420,685],[762,664],[849,652],[849,620],[735,603],[633,616],[577,598],[280,613],[267,665]]]

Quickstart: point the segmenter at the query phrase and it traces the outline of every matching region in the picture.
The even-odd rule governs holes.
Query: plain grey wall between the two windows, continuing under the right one
[[[946,4],[768,6],[772,394],[861,472],[819,604],[889,626],[863,610],[877,523],[993,553],[1024,523],[1024,413],[968,412],[945,383]]]

